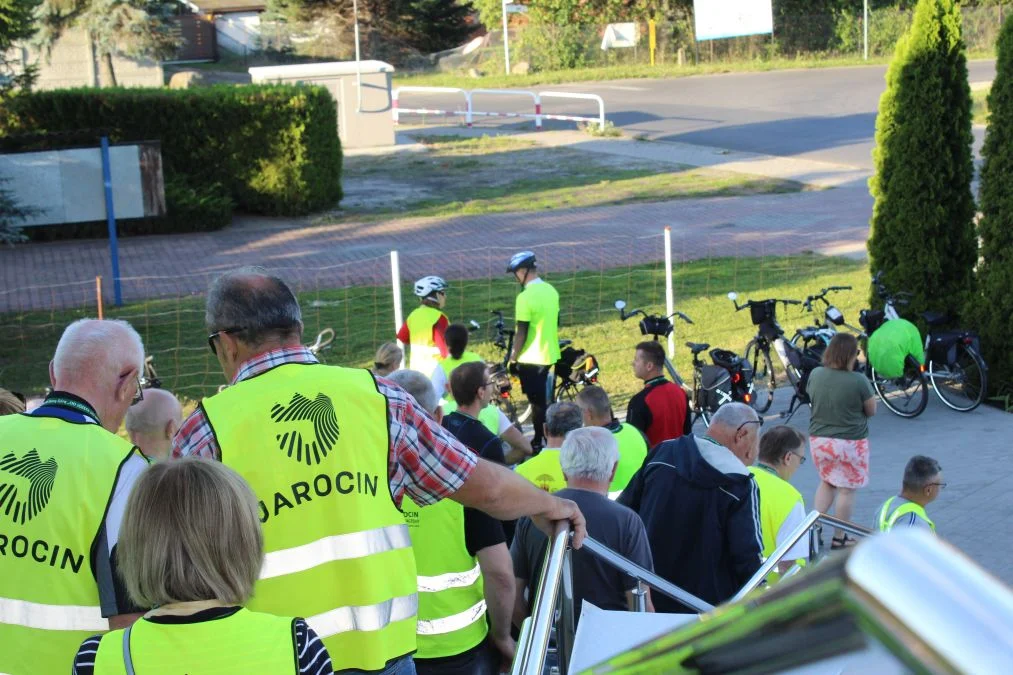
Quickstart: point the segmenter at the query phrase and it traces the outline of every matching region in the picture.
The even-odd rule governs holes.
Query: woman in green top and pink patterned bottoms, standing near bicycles
[[[809,417],[809,452],[820,473],[813,499],[817,511],[835,508],[838,518],[851,520],[855,491],[869,482],[869,424],[876,414],[872,384],[855,372],[858,341],[850,333],[834,335],[824,352],[823,367],[809,375],[812,401]],[[855,542],[837,530],[831,548]]]

